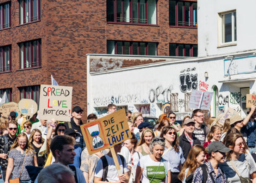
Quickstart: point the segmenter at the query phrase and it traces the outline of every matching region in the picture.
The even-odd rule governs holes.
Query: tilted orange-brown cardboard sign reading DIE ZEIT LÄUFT
[[[90,155],[132,137],[124,109],[83,124],[80,128]]]

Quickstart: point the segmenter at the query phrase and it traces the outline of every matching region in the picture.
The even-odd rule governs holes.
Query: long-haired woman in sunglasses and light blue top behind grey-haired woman
[[[179,146],[179,140],[177,139],[178,137],[174,127],[163,127],[160,137],[165,140],[162,157],[169,161],[171,165],[171,182],[181,183],[178,179],[178,174],[181,170],[181,165],[185,162],[185,158],[183,157],[182,149]]]

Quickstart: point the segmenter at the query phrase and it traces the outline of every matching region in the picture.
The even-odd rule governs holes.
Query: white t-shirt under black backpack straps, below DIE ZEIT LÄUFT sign
[[[113,158],[108,156],[108,155],[105,155],[105,157],[106,157],[107,163],[108,163],[108,170],[107,170],[107,180],[108,180],[108,182],[118,181],[117,167],[115,167],[115,163],[114,163]],[[121,171],[124,172],[124,173],[129,172],[129,169],[128,169],[127,164],[126,164],[126,160],[124,159],[124,169],[123,169],[123,164],[122,164],[122,161],[121,161],[121,158],[120,158],[119,155],[117,155],[117,160],[118,160],[118,163],[120,165]],[[99,161],[97,162],[94,177],[99,177],[99,178],[103,177],[103,163],[102,163],[101,159],[99,159]]]

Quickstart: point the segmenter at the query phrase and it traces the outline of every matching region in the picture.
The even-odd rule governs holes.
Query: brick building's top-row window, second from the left
[[[40,20],[40,0],[19,0],[20,24]]]

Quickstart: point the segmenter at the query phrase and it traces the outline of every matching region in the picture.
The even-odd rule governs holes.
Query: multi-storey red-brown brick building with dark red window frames
[[[52,74],[87,111],[86,54],[197,56],[196,17],[196,0],[0,0],[0,96],[38,102]]]

